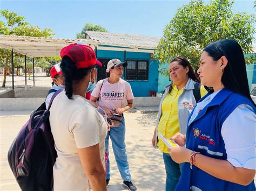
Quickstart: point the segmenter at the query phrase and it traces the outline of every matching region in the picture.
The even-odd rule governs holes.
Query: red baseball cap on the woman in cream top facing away
[[[77,68],[88,68],[94,65],[102,66],[102,63],[96,59],[92,47],[81,44],[70,44],[61,49],[60,56],[69,56],[75,62]]]

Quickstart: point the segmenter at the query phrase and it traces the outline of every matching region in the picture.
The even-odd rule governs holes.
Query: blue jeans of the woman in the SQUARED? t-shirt
[[[107,132],[105,139],[105,147],[107,152],[107,173],[106,179],[110,179],[110,162],[109,162],[109,138],[112,141],[112,148],[114,152],[114,158],[116,158],[117,167],[124,181],[131,181],[131,174],[129,172],[129,163],[127,161],[126,149],[125,149],[125,121],[122,118],[121,124],[117,128],[110,128]]]

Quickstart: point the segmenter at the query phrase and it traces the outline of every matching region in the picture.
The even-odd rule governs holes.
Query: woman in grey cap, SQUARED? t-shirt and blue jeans
[[[133,107],[133,94],[131,86],[128,82],[121,79],[124,67],[127,66],[127,62],[121,62],[118,59],[112,59],[107,63],[107,73],[110,73],[110,77],[100,80],[96,88],[92,91],[91,101],[97,101],[99,97],[99,107],[101,107],[109,117],[112,117],[114,112],[123,115],[124,111],[127,111]],[[125,104],[127,101],[127,104]],[[97,104],[98,105],[98,104]],[[123,185],[130,190],[136,190],[136,186],[131,182],[131,174],[129,172],[129,163],[127,161],[126,148],[125,148],[125,121],[122,117],[122,121],[116,128],[110,128],[107,132],[105,139],[106,152],[109,154],[109,137],[112,141],[112,147],[114,156],[116,158],[119,172],[124,180]],[[106,173],[106,185],[110,181],[110,162],[107,157],[107,173]]]

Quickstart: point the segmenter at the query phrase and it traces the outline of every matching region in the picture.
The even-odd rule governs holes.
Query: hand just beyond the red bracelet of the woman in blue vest
[[[177,163],[190,162],[191,150],[182,146],[169,147],[172,160]]]

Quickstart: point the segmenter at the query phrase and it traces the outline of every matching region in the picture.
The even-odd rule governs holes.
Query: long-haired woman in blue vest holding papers
[[[172,159],[185,162],[176,190],[255,190],[256,109],[237,41],[208,45],[198,74],[212,93],[193,109],[186,135],[171,138],[180,145],[169,148]]]

